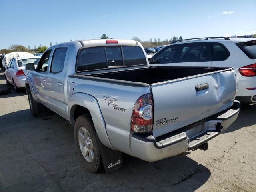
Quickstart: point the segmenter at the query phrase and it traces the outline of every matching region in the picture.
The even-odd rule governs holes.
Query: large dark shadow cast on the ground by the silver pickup
[[[4,191],[194,191],[211,175],[186,156],[145,162],[126,154],[119,170],[93,174],[80,165],[72,126],[54,112],[34,118],[20,110],[0,124]]]

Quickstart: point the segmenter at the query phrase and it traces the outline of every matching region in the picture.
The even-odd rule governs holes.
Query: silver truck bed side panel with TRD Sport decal
[[[69,78],[68,81],[75,83],[74,93],[86,93],[96,98],[112,146],[130,154],[129,136],[132,110],[140,96],[150,93],[150,87],[125,86],[78,78]]]

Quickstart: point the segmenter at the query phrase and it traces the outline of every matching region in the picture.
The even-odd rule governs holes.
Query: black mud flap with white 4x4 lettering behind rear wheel
[[[123,166],[122,152],[107,148],[102,144],[98,135],[97,142],[100,148],[100,156],[102,158],[104,169],[107,173],[113,172]]]

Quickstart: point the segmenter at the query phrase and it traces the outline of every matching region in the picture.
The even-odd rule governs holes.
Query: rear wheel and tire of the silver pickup
[[[76,119],[74,140],[82,166],[93,173],[102,170],[100,149],[90,114],[81,115]]]

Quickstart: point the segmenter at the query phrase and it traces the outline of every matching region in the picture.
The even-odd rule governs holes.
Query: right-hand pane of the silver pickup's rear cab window
[[[144,52],[137,46],[122,46],[125,66],[147,64]]]

